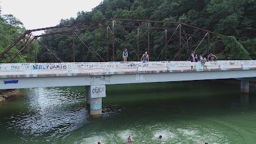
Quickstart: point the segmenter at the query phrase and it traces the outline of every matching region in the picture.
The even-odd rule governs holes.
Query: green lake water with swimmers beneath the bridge
[[[0,103],[0,143],[256,141],[256,88],[213,81],[107,85],[91,118],[84,86],[32,88]],[[163,139],[157,139],[162,135]]]

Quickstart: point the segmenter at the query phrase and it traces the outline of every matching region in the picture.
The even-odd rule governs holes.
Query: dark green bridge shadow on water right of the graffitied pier
[[[115,109],[124,109],[124,114],[120,115],[131,114],[136,115],[136,118],[141,114],[143,118],[151,116],[152,112],[154,115],[165,117],[179,115],[174,117],[182,118],[190,115],[190,118],[211,118],[216,115],[235,115],[234,111],[249,109],[250,102],[254,101],[250,99],[255,99],[255,93],[252,91],[250,95],[252,97],[240,93],[240,86],[237,85],[212,81],[186,81],[108,86],[107,97],[102,100],[103,108],[115,106]],[[137,108],[136,113],[132,112],[134,108]],[[104,109],[108,110],[111,108]]]

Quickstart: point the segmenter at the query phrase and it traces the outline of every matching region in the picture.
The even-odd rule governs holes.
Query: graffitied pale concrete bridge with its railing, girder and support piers
[[[207,68],[190,61],[0,64],[0,89],[86,86],[90,114],[100,116],[106,84],[235,78],[241,80],[241,92],[248,93],[249,81],[256,81],[256,61],[213,61],[205,65]]]

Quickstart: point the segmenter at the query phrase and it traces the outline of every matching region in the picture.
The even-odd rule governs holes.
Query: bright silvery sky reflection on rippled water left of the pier
[[[27,139],[28,134],[44,136],[47,133],[49,136],[45,140],[54,141],[88,121],[89,115],[86,108],[74,106],[82,99],[84,99],[84,95],[77,97],[77,93],[70,92],[70,88],[65,90],[35,88],[29,93],[26,101],[29,111],[26,111],[26,114],[21,117],[18,115],[10,120],[19,119],[12,125],[22,129],[24,140]]]

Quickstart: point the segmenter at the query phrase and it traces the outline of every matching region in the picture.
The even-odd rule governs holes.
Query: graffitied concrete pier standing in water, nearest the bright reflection
[[[90,115],[99,117],[102,115],[102,97],[106,97],[105,85],[86,86],[87,106],[90,106]]]

